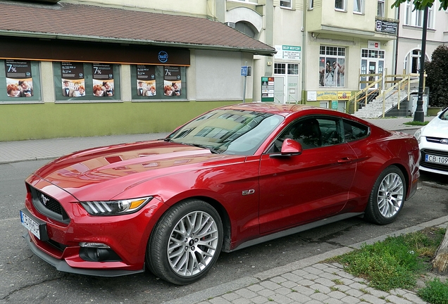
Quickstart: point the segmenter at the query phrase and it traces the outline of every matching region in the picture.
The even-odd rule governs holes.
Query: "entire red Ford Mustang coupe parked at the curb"
[[[334,110],[244,103],[165,139],[79,151],[26,179],[20,220],[57,270],[144,271],[173,284],[263,241],[363,215],[395,220],[416,191],[414,137]]]

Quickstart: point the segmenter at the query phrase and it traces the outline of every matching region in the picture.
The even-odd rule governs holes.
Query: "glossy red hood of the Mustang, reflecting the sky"
[[[106,200],[149,179],[225,165],[235,158],[242,160],[242,156],[213,154],[205,148],[163,140],[142,141],[63,156],[37,170],[27,182],[39,187],[39,179],[44,179],[79,200],[86,195]],[[110,197],[105,198],[105,193]]]

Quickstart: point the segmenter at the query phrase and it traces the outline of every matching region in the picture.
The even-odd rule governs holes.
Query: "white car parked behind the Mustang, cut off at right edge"
[[[420,170],[448,175],[448,108],[414,136],[421,151]]]

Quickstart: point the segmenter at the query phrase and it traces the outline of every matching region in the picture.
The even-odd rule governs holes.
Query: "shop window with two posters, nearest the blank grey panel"
[[[134,101],[187,99],[187,74],[183,66],[131,65]]]

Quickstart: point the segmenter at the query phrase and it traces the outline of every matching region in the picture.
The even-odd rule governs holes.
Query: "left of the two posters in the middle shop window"
[[[85,96],[84,63],[61,62],[62,96]]]

